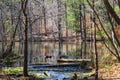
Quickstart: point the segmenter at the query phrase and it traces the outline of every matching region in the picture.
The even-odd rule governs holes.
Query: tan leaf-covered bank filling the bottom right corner
[[[99,70],[100,80],[120,80],[120,63]]]

